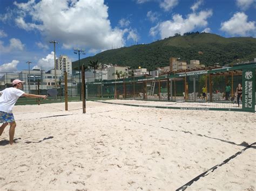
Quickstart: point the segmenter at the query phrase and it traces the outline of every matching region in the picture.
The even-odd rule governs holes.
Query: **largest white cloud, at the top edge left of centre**
[[[104,0],[42,0],[15,5],[22,12],[15,17],[17,26],[38,30],[46,40],[56,39],[65,48],[108,49],[112,44],[125,45],[126,33],[111,27]]]

